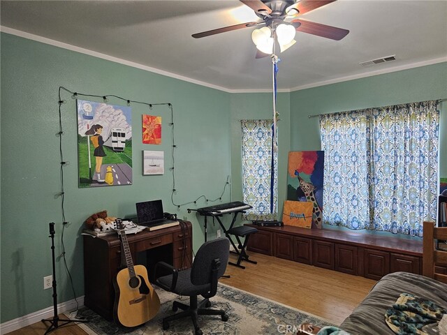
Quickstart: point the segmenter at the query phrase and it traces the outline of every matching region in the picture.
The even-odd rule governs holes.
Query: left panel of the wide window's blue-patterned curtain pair
[[[372,229],[367,182],[369,113],[371,110],[358,110],[320,117],[325,223]]]

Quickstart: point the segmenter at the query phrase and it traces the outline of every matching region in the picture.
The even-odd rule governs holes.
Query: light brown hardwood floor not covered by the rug
[[[314,314],[339,325],[362,301],[376,281],[360,276],[312,267],[258,253],[249,253],[257,265],[242,262],[246,269],[228,265],[220,282],[282,304]],[[235,261],[235,255],[230,258]],[[61,316],[61,318],[63,318]],[[10,332],[11,335],[41,335],[48,325],[34,325]],[[85,335],[80,327],[70,324],[50,334]]]

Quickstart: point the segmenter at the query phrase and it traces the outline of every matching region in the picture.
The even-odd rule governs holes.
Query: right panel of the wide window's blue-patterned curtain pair
[[[371,124],[375,228],[422,236],[423,221],[436,219],[437,101],[383,107]]]

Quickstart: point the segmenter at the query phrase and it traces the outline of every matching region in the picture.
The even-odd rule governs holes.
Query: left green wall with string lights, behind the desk
[[[56,223],[58,301],[73,299],[61,255],[62,215],[58,89],[115,94],[147,103],[172,103],[175,121],[177,204],[200,195],[219,198],[231,174],[230,94],[116,64],[9,34],[1,34],[1,322],[52,306],[43,276],[52,274],[48,223]],[[193,248],[203,243],[203,218],[177,209],[171,199],[172,137],[168,107],[132,105],[133,185],[78,188],[75,100],[62,91],[65,215],[68,269],[83,295],[82,223],[103,209],[110,216],[135,216],[135,202],[162,199],[166,211],[193,223]],[[82,98],[82,96],[80,97]],[[88,99],[88,98],[87,98]],[[109,98],[110,103],[124,104]],[[163,143],[141,143],[141,115],[163,118]],[[142,175],[142,150],[165,151],[165,174]],[[222,202],[230,200],[226,188]],[[219,203],[219,202],[217,202]],[[215,237],[210,228],[210,237]],[[91,255],[94,257],[94,255]],[[95,278],[89,278],[94,281]]]

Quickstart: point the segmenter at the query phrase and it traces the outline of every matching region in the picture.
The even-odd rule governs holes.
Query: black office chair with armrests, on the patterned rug
[[[204,307],[210,307],[209,299],[216,295],[217,281],[225,273],[229,250],[230,242],[227,238],[222,237],[207,241],[200,246],[191,269],[177,271],[165,262],[156,263],[154,269],[156,285],[177,295],[189,296],[189,306],[174,301],[173,311],[177,311],[178,308],[183,311],[163,318],[164,330],[169,328],[169,321],[190,316],[196,335],[202,335],[202,331],[198,327],[197,315],[221,315],[222,321],[228,320],[225,311]],[[170,274],[159,276],[162,271],[165,273],[169,271]],[[200,304],[197,302],[198,295],[205,298],[200,301]]]

